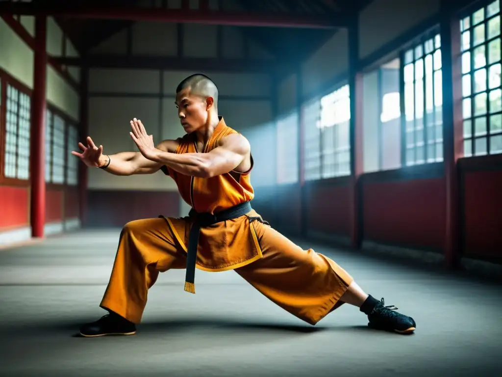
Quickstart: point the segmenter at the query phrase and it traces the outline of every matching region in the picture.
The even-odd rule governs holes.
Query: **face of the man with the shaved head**
[[[186,133],[192,133],[207,123],[208,100],[190,93],[190,88],[176,93],[178,117]]]

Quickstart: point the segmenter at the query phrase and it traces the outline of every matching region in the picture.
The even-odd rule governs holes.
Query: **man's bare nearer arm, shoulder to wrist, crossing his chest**
[[[176,154],[157,150],[153,160],[181,174],[210,178],[235,169],[249,151],[247,139],[242,135],[232,134],[224,137],[219,146],[207,153]]]

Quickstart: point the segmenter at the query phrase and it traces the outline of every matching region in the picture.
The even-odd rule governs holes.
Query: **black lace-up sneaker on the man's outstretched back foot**
[[[417,324],[414,319],[396,312],[395,306],[385,306],[385,301],[382,298],[378,302],[373,311],[368,314],[368,326],[385,331],[395,331],[400,334],[411,334],[415,331]]]

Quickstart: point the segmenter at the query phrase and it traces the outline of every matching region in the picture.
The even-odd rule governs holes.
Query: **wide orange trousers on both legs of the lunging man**
[[[255,221],[254,226],[263,258],[235,272],[281,308],[312,325],[343,304],[340,298],[353,281],[347,272],[312,249],[302,250],[269,225]],[[185,267],[186,253],[164,219],[132,221],[120,234],[100,306],[140,323],[148,290],[159,272]],[[180,281],[180,287],[183,284]]]

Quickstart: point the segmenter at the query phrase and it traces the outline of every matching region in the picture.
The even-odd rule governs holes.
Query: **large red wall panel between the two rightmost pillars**
[[[367,182],[362,192],[364,239],[443,249],[444,179]]]

